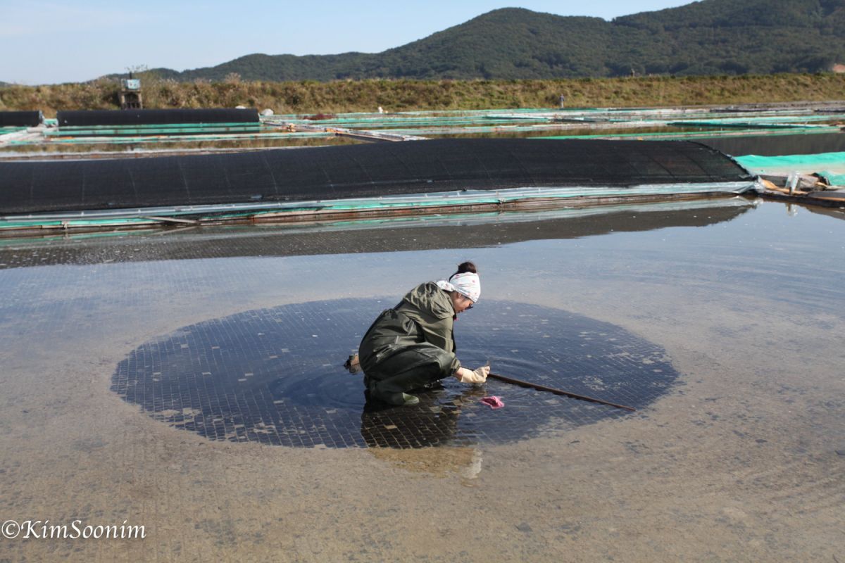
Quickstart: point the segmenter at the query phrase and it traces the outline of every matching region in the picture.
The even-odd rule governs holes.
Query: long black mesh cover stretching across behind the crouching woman
[[[0,213],[739,181],[686,141],[441,139],[145,159],[0,162]]]

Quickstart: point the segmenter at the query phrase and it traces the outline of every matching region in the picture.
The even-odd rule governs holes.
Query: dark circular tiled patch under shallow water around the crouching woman
[[[143,344],[112,391],[157,420],[211,440],[313,447],[425,447],[513,441],[621,409],[488,380],[454,378],[414,407],[367,403],[342,364],[384,300],[327,300],[245,311]],[[476,367],[641,409],[678,376],[663,349],[608,322],[484,300],[455,323],[458,357]],[[498,395],[504,409],[480,403]]]

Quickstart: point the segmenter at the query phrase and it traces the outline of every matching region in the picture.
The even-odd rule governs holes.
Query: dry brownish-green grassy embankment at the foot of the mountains
[[[368,79],[333,82],[260,82],[230,76],[221,82],[177,82],[143,73],[147,108],[248,106],[276,113],[477,110],[566,106],[700,106],[845,100],[845,74],[783,73],[739,76],[646,76],[548,80]],[[0,87],[0,110],[117,109],[119,84],[101,78],[83,84]]]

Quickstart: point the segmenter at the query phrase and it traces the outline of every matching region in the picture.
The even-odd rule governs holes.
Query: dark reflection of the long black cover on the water
[[[248,256],[311,256],[359,252],[477,248],[539,239],[571,239],[612,232],[715,225],[754,208],[746,198],[622,204],[592,208],[412,219],[345,221],[320,225],[242,225],[184,230],[0,239],[0,269]],[[37,264],[22,248],[38,247]],[[41,250],[43,249],[43,250]]]

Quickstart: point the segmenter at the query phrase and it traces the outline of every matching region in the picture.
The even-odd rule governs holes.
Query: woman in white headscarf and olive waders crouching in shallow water
[[[480,295],[475,264],[465,262],[449,281],[417,285],[397,306],[382,311],[358,347],[369,397],[413,405],[419,398],[409,391],[448,376],[465,383],[485,382],[489,366],[468,370],[455,356],[454,322]]]

